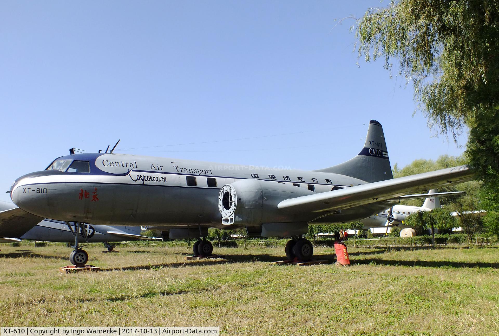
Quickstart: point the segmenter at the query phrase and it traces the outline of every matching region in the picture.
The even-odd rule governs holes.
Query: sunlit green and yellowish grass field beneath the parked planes
[[[499,248],[349,248],[351,267],[271,265],[283,249],[0,244],[2,326],[221,326],[222,334],[499,334]],[[317,257],[332,260],[333,249]]]

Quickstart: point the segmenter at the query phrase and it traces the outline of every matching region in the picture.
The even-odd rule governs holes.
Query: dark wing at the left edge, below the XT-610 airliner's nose
[[[0,211],[0,236],[20,238],[42,220],[18,207]]]

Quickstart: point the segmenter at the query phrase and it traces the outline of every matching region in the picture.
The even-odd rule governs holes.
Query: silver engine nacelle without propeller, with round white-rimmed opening
[[[291,184],[250,178],[226,184],[219,193],[222,224],[257,226],[262,223],[306,221],[307,214],[289,214],[279,210],[277,204],[284,199],[313,193]]]

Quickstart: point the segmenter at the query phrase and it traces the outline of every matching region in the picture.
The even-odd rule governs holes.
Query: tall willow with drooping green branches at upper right
[[[359,57],[384,58],[441,133],[470,129],[466,157],[499,194],[499,1],[392,0],[357,21]],[[394,66],[393,59],[398,60]],[[498,197],[484,202],[497,211]]]

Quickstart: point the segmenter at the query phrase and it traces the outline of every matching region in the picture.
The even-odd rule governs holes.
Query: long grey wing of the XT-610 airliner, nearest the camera
[[[338,211],[354,206],[398,199],[403,195],[425,189],[466,182],[473,179],[473,176],[474,173],[471,169],[467,165],[462,165],[339,190],[288,198],[278,203],[277,207],[291,213]],[[430,194],[430,197],[431,195],[434,194]],[[425,197],[428,196],[426,194]]]

